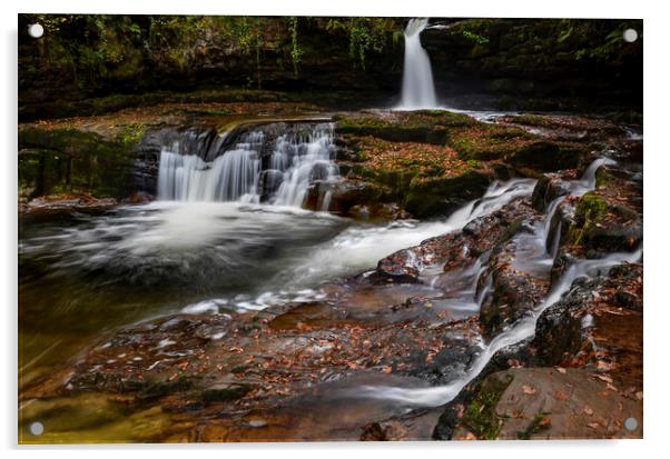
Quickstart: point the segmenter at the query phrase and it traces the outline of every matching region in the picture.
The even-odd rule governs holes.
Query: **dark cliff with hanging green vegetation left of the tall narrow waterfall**
[[[270,79],[276,88],[302,77],[304,64],[323,62],[324,47],[348,60],[344,71],[365,71],[403,30],[397,18],[21,14],[19,21],[21,30],[45,28],[38,40],[20,37],[23,103],[204,82],[262,89]],[[63,87],[68,93],[57,92]]]

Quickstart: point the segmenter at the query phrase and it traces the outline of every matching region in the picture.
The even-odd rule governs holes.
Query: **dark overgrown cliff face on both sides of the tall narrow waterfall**
[[[32,39],[26,30],[38,21],[46,33]],[[20,114],[88,114],[144,102],[62,110],[53,104],[206,88],[300,97],[348,92],[364,107],[390,107],[400,97],[405,23],[403,18],[21,14]],[[641,20],[433,18],[431,24],[422,41],[441,100],[450,104],[641,107]],[[628,28],[639,32],[634,43],[622,39]]]

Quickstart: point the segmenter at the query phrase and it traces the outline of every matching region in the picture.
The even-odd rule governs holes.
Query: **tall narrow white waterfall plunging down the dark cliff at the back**
[[[401,101],[401,108],[405,110],[437,107],[431,59],[421,46],[421,32],[427,24],[427,19],[412,19],[405,28],[405,63]]]

